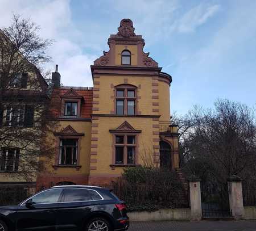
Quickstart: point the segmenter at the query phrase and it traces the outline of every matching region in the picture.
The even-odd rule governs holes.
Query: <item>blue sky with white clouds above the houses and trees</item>
[[[0,0],[0,28],[13,14],[30,18],[65,86],[92,86],[90,65],[109,51],[108,37],[123,18],[172,75],[171,112],[213,107],[218,98],[256,107],[255,0]]]

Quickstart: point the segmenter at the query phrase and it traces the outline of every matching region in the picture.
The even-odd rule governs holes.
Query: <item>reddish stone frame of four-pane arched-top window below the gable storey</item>
[[[119,97],[117,96],[117,90],[123,90],[124,91],[124,96],[123,97]],[[127,91],[128,90],[134,90],[134,96],[135,97],[128,97],[127,95]],[[117,85],[115,86],[115,90],[114,90],[114,114],[117,114],[117,100],[123,100],[123,115],[127,115],[127,100],[131,99],[134,100],[134,115],[138,114],[137,111],[137,104],[138,104],[138,96],[137,96],[137,87],[134,85],[129,85],[129,84],[121,84],[121,85]]]

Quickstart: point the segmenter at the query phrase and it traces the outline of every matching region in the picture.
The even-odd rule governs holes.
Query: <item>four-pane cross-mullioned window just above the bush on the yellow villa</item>
[[[115,135],[115,164],[135,164],[135,135]]]

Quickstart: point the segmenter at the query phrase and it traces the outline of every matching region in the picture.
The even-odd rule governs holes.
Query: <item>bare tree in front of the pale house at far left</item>
[[[40,38],[39,29],[14,15],[0,30],[0,171],[27,180],[42,169],[39,157],[47,161],[53,154],[47,134],[57,125],[49,120],[53,105],[39,71],[50,60],[46,51],[52,41]]]

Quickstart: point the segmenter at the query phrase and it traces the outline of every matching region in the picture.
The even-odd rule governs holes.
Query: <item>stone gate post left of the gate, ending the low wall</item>
[[[191,177],[188,179],[192,221],[200,221],[202,219],[200,181],[201,179],[196,177]]]

